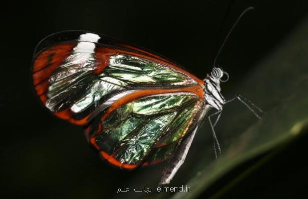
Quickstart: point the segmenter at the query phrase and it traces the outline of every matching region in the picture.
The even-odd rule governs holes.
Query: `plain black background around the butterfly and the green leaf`
[[[234,21],[245,8],[255,6],[232,32],[218,61],[230,74],[222,89],[232,90],[308,12],[307,0],[6,3],[1,8],[0,180],[3,194],[9,198],[110,198],[123,181],[138,172],[103,163],[87,146],[81,127],[51,116],[35,98],[31,58],[43,37],[70,29],[103,33],[162,54],[204,78]],[[224,197],[303,196],[308,177],[308,164],[303,160],[307,136],[295,143]],[[243,167],[218,181],[204,197],[219,190]]]

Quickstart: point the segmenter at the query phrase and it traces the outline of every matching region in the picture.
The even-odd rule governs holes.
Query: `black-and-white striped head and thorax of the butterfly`
[[[223,77],[226,76],[226,79]],[[227,82],[229,79],[228,73],[221,68],[214,67],[211,74],[204,79],[204,98],[208,105],[217,110],[222,110],[226,100],[221,95],[220,83]]]

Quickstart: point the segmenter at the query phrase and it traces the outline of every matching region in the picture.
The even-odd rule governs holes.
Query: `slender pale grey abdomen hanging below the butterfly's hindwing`
[[[198,126],[183,139],[179,148],[175,152],[174,156],[169,160],[167,166],[164,168],[162,177],[160,179],[160,185],[169,184],[181,165],[184,163],[188,150],[198,130]]]

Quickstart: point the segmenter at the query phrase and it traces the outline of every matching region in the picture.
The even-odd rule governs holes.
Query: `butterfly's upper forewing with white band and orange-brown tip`
[[[179,89],[200,82],[156,54],[103,35],[69,33],[53,34],[40,42],[32,77],[43,105],[72,123],[88,123],[112,103],[113,97],[136,90]]]

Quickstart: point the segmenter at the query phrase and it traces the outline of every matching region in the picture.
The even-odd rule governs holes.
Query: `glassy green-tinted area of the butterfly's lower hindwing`
[[[125,165],[140,165],[149,155],[153,161],[166,158],[173,153],[177,144],[159,150],[154,149],[154,146],[165,135],[168,135],[168,139],[164,139],[170,144],[189,132],[197,121],[193,117],[200,110],[200,103],[199,97],[190,93],[155,95],[134,100],[117,108],[102,122],[93,122],[92,132],[89,133],[91,143],[99,151],[108,154],[104,158],[110,163],[116,160],[124,168]],[[185,119],[180,119],[184,116]],[[95,126],[99,125],[101,129],[97,132]]]

